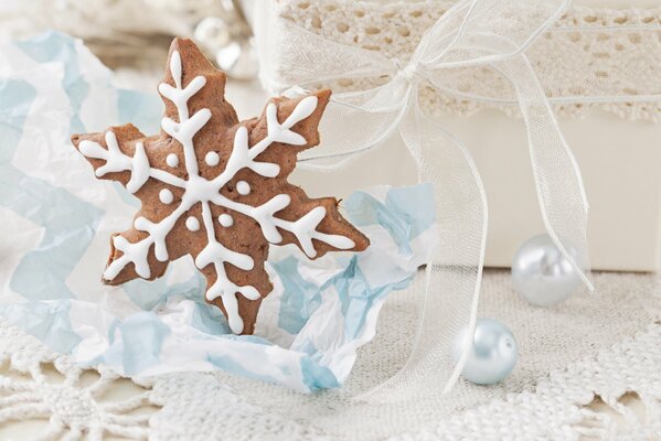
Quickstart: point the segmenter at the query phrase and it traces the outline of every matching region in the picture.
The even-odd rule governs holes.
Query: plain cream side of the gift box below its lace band
[[[469,148],[489,201],[486,265],[509,267],[519,246],[543,233],[523,122],[495,110],[443,117],[441,123]],[[588,243],[595,269],[654,271],[661,262],[661,126],[595,111],[561,119],[583,171],[590,204]],[[297,170],[294,182],[312,196],[348,195],[383,182],[416,182],[401,139],[365,153],[332,174]],[[326,193],[324,193],[326,192]]]

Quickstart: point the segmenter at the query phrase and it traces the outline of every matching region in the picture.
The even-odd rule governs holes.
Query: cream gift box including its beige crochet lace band
[[[552,104],[582,168],[590,205],[593,268],[655,271],[661,265],[661,9],[648,0],[577,3],[557,24],[557,32],[540,37],[530,57],[545,88],[544,79],[551,79],[547,95],[557,98]],[[416,35],[424,32],[412,22],[433,23],[446,3],[282,0],[278,4],[278,19],[406,60]],[[584,87],[582,76],[589,76],[589,85]],[[348,80],[322,86],[343,90],[371,84]],[[606,98],[618,94],[636,99]],[[573,97],[563,101],[567,95]],[[465,142],[482,176],[489,202],[486,265],[508,267],[524,240],[544,232],[523,121],[512,116],[515,111],[480,103],[429,96],[428,104],[438,122]],[[395,136],[342,170],[328,175],[297,170],[294,180],[311,195],[328,194],[331,187],[342,196],[374,184],[415,183],[417,171]]]

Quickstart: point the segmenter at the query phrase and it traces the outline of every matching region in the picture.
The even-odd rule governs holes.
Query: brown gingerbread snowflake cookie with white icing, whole
[[[259,118],[239,122],[224,90],[225,74],[190,40],[175,39],[159,85],[160,135],[126,125],[72,141],[97,178],[120,182],[142,203],[134,227],[110,240],[104,282],[152,280],[191,255],[206,278],[206,301],[234,333],[252,334],[273,289],[268,244],[296,244],[313,259],[363,250],[369,240],[342,218],[334,197],[309,198],[287,182],[297,154],[319,143],[330,92],[274,98]]]

